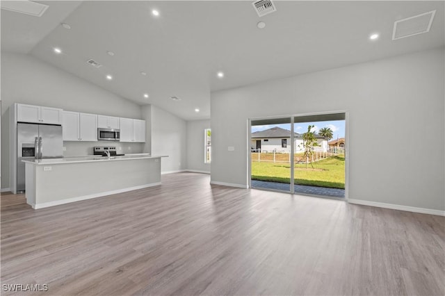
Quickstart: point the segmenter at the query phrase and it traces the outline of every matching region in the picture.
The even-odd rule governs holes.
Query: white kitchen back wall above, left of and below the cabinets
[[[140,106],[32,56],[1,53],[1,188],[9,188],[9,107],[13,103],[140,118]],[[124,153],[143,144],[115,143]],[[91,147],[110,142],[65,142],[65,156],[91,154]]]

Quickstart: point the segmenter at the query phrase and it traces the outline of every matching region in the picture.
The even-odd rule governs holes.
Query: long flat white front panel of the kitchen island
[[[36,167],[36,176],[35,208],[43,208],[159,185],[161,158],[48,163]]]

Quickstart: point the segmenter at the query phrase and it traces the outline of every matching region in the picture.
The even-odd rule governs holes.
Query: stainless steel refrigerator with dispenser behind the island
[[[17,124],[17,191],[25,190],[23,160],[63,158],[62,126]]]

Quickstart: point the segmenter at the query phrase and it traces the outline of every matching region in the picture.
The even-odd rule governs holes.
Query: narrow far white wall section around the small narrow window
[[[187,122],[187,170],[210,173],[210,163],[204,163],[204,129],[210,129],[210,120]]]

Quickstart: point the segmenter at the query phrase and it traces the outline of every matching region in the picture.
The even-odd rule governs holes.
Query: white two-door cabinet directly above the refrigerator
[[[17,104],[17,122],[62,124],[62,117],[60,108]]]

